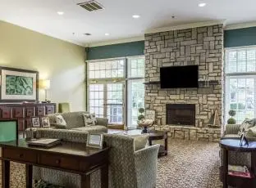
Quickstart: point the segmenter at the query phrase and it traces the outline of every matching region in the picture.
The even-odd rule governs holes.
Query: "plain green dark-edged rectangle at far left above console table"
[[[0,120],[0,141],[17,141],[18,137],[16,120]]]

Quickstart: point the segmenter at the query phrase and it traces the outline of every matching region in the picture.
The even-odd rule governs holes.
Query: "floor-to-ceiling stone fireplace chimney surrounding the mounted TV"
[[[208,122],[216,109],[222,119],[223,25],[145,34],[144,55],[145,108],[156,112],[155,129],[169,137],[219,141],[221,128]],[[160,87],[161,67],[185,65],[199,66],[198,88]]]

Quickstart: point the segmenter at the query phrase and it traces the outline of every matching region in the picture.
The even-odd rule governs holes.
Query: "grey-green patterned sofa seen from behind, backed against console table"
[[[59,131],[59,132],[58,132]],[[60,137],[64,141],[86,143],[87,132],[47,132],[39,129],[37,137]],[[57,133],[58,132],[58,133]],[[149,135],[144,135],[145,139]],[[159,145],[135,150],[135,139],[124,135],[104,134],[104,141],[111,147],[109,152],[109,187],[111,188],[153,188],[156,186]],[[55,185],[78,188],[80,176],[48,168],[33,168],[34,180],[43,179]],[[100,173],[91,175],[91,187],[100,187]]]

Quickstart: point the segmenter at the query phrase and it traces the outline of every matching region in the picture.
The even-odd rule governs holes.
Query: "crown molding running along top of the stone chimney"
[[[220,24],[225,25],[225,21],[226,20],[212,20],[212,21],[203,21],[203,22],[197,22],[197,23],[191,23],[191,24],[185,24],[185,25],[175,25],[175,26],[169,26],[169,27],[163,27],[163,28],[147,29],[145,30],[145,34],[153,34],[153,33],[179,30],[179,29],[190,29],[190,28],[197,28],[197,27],[203,27],[203,26],[209,26],[209,25],[220,25]]]

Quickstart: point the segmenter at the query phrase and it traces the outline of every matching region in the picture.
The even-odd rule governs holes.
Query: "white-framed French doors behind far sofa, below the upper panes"
[[[107,118],[109,124],[123,124],[124,87],[124,83],[89,84],[89,111]]]

